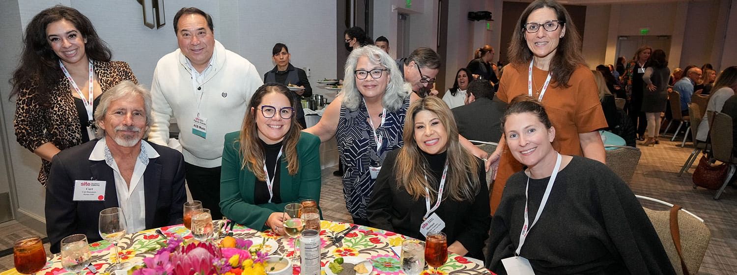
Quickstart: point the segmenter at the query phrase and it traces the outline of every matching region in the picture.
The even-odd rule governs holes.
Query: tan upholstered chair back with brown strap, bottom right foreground
[[[635,197],[640,200],[652,201],[663,204],[664,206],[673,207],[673,204],[655,198],[641,195],[635,195]],[[666,249],[666,254],[668,254],[668,259],[671,260],[671,265],[676,270],[676,274],[683,274],[680,257],[678,257],[678,252],[671,236],[670,209],[660,211],[646,207],[643,207],[643,209],[645,210],[645,214],[650,218],[650,222],[655,232],[657,232],[657,237],[660,238],[660,243],[663,243],[663,248]],[[711,240],[709,227],[706,226],[704,219],[701,217],[688,212],[686,209],[680,209],[678,212],[678,232],[680,233],[683,262],[685,262],[689,274],[696,274],[699,271],[699,267],[701,267],[706,249]]]

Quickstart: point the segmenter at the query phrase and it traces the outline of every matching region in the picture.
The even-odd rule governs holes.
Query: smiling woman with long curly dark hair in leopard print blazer
[[[44,186],[50,161],[60,150],[94,138],[88,134],[85,108],[90,74],[94,108],[99,95],[122,80],[138,83],[128,63],[111,57],[89,19],[71,7],[43,10],[28,24],[10,97],[17,97],[15,136],[21,146],[41,156],[38,181]]]

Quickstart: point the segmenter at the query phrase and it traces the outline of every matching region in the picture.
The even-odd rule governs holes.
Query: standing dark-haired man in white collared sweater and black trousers
[[[240,130],[251,95],[263,82],[256,67],[216,41],[212,17],[195,7],[174,16],[179,49],[158,60],[151,94],[149,141],[168,145],[176,120],[192,198],[220,212],[220,162],[225,134]]]

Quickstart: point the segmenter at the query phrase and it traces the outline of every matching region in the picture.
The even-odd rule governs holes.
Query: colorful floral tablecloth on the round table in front
[[[337,257],[353,256],[365,258],[366,260],[373,260],[374,273],[372,274],[404,274],[399,268],[399,255],[394,254],[391,247],[401,246],[402,240],[405,240],[405,236],[381,229],[358,226],[356,230],[347,234],[346,238],[343,239],[342,242],[338,243],[337,246],[330,246],[328,237],[332,236],[335,232],[347,229],[349,226],[352,226],[352,224],[331,222],[327,220],[321,221],[320,237],[323,244],[323,249],[321,251],[321,265],[325,266],[328,262]],[[118,254],[120,259],[123,262],[140,264],[143,262],[145,257],[153,257],[153,254],[156,254],[156,251],[164,245],[164,238],[159,237],[154,230],[155,229],[150,229],[137,232],[135,234],[128,234],[120,240],[118,242]],[[192,234],[189,234],[189,230],[184,228],[182,225],[162,227],[161,231],[164,232],[167,237],[172,234],[178,234],[184,236],[185,240],[192,238]],[[277,254],[284,254],[286,257],[291,257],[294,254],[293,239],[286,235],[279,236],[270,230],[259,232],[244,226],[235,226],[234,237],[240,237],[243,239],[262,237],[270,238],[276,240],[276,243],[279,243],[279,248],[277,248],[276,251]],[[112,244],[105,240],[91,243],[90,251],[92,254],[92,265],[97,268],[98,273],[104,273],[105,268],[107,268],[114,260],[113,254],[115,250]],[[393,265],[386,263],[391,263]],[[293,266],[293,274],[300,274],[299,262],[295,262]],[[87,271],[87,274],[92,274],[87,269],[85,269],[85,271]],[[17,274],[17,272],[12,269],[10,271],[0,273],[0,275],[6,274]],[[53,257],[46,262],[46,267],[37,274],[73,275],[73,273],[67,272],[61,266],[59,254],[53,255]],[[325,274],[325,272],[323,271],[322,274]],[[433,274],[489,274],[489,271],[486,271],[486,269],[478,263],[467,260],[465,257],[450,254],[445,265],[438,268],[438,271],[434,271]]]

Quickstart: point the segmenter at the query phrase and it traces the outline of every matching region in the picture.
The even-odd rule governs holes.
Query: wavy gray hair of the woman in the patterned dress
[[[354,49],[346,60],[346,74],[343,80],[343,102],[349,110],[356,110],[363,99],[358,87],[356,86],[356,75],[354,71],[358,63],[358,58],[366,56],[373,63],[380,64],[388,69],[389,82],[382,97],[382,105],[388,111],[397,111],[402,108],[402,102],[408,97],[411,91],[409,84],[405,84],[405,78],[399,72],[397,62],[391,59],[383,49],[374,45],[362,46]],[[370,77],[370,76],[369,76]]]

